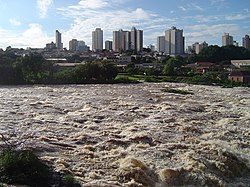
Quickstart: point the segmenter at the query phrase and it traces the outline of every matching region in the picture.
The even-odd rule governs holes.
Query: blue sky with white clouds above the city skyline
[[[45,47],[62,33],[91,46],[92,31],[104,41],[115,30],[143,30],[144,46],[172,26],[183,29],[185,46],[206,41],[221,46],[227,32],[242,44],[250,35],[250,0],[0,0],[0,48]]]

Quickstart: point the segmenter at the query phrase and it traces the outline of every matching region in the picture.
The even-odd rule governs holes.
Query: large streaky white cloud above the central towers
[[[115,30],[130,30],[135,26],[149,33],[154,32],[155,28],[162,29],[166,22],[174,21],[140,7],[124,8],[126,1],[122,0],[102,0],[98,4],[99,0],[91,2],[92,0],[82,0],[76,5],[58,9],[59,14],[73,20],[70,29],[62,33],[64,46],[68,46],[68,41],[72,38],[84,40],[87,45],[91,45],[91,33],[96,27],[104,31],[104,40],[112,40]]]

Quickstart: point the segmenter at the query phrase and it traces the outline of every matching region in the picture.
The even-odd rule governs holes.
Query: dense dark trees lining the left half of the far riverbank
[[[24,57],[9,52],[0,54],[0,84],[106,83],[112,82],[117,74],[117,67],[108,61],[60,69],[37,53]]]

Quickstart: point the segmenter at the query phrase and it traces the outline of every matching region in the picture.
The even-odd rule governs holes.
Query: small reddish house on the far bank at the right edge
[[[242,82],[245,84],[249,84],[250,72],[242,70],[234,70],[229,74],[228,79],[235,82]]]

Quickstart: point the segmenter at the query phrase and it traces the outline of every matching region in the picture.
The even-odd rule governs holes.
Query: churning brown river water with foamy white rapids
[[[83,186],[250,184],[249,88],[0,86],[0,133]]]

